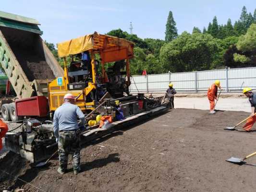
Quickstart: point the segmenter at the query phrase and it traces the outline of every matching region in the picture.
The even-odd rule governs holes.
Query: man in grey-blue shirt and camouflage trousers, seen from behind
[[[73,156],[73,171],[78,174],[80,168],[80,129],[85,126],[85,115],[74,105],[74,96],[66,94],[64,103],[56,109],[53,117],[54,135],[58,140],[59,164],[58,172],[64,174],[67,170],[68,156]],[[77,117],[80,123],[77,122]]]

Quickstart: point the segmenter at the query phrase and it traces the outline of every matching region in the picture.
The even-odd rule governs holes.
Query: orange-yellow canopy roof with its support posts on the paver
[[[94,70],[95,59],[94,54],[99,53],[102,64],[102,74],[104,82],[108,81],[108,76],[105,72],[104,64],[118,60],[126,60],[126,76],[127,85],[130,85],[130,62],[129,59],[134,57],[134,43],[126,39],[101,35],[97,32],[94,34],[81,36],[57,44],[58,55],[60,58],[69,55],[75,55],[84,51],[89,51],[92,55],[92,67]],[[66,68],[66,62],[65,68]],[[67,69],[64,69],[67,73]],[[95,83],[95,72],[93,72],[93,82]]]

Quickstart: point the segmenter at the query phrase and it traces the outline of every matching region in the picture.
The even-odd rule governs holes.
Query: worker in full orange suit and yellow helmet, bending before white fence
[[[217,99],[218,87],[221,89],[220,81],[216,80],[214,84],[212,84],[207,91],[207,97],[210,102],[210,114],[215,114],[214,106],[215,106],[215,99]]]

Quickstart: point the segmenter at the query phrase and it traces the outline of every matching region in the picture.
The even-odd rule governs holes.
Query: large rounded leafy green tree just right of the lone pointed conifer
[[[183,32],[160,50],[164,72],[187,72],[210,69],[219,52],[218,40],[209,34]]]

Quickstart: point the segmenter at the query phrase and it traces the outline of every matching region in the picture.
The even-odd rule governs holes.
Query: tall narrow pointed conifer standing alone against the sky
[[[176,23],[173,19],[172,12],[169,12],[169,16],[166,23],[166,30],[165,30],[165,40],[167,42],[171,42],[172,39],[178,36]]]

